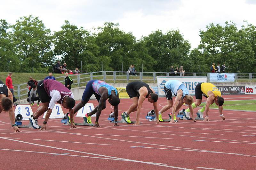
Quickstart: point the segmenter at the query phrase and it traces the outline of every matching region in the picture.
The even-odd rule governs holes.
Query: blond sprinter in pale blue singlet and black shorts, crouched
[[[160,111],[159,111],[159,121],[163,121],[162,114],[170,109],[172,107],[172,114],[170,114],[171,121],[170,123],[174,123],[175,113],[180,109],[183,103],[188,104],[188,107],[192,109],[191,104],[194,102],[194,99],[192,96],[189,96],[189,91],[185,87],[182,82],[178,80],[169,80],[164,85],[164,92],[167,99],[167,105],[165,105]],[[172,94],[176,96],[174,104],[172,101]],[[192,120],[196,122],[193,111],[191,112]]]

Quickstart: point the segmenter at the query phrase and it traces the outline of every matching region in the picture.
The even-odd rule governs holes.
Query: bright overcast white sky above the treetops
[[[199,31],[209,23],[233,21],[240,28],[247,20],[256,25],[255,9],[256,0],[8,0],[1,2],[0,19],[15,24],[20,17],[38,16],[51,31],[59,31],[64,20],[87,30],[114,22],[137,39],[179,29],[196,48]]]

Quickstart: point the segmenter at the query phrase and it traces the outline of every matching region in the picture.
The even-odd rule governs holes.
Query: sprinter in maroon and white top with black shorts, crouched
[[[47,111],[43,126],[40,128],[40,130],[46,130],[46,124],[52,113],[52,109],[54,108],[55,103],[60,103],[65,109],[69,109],[70,121],[73,122],[73,108],[76,104],[74,95],[61,82],[51,79],[39,81],[37,84],[37,93],[42,102],[42,106],[40,106],[36,110],[36,113],[31,115],[31,118],[29,118],[29,121],[32,122],[32,125],[35,129],[39,129],[37,118],[44,114],[45,111]],[[71,128],[76,128],[76,125],[72,123]]]

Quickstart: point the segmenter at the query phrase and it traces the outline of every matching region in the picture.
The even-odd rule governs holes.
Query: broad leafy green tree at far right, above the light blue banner
[[[226,22],[225,26],[213,24],[206,26],[206,31],[200,31],[201,44],[206,64],[226,63],[229,72],[251,72],[248,64],[255,64],[254,51],[247,38],[246,32],[238,30],[233,22]]]

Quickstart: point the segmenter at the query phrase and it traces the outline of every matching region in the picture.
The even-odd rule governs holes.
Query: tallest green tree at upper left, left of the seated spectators
[[[21,72],[47,72],[53,61],[51,30],[32,15],[21,17],[12,25],[12,42],[20,60]]]

